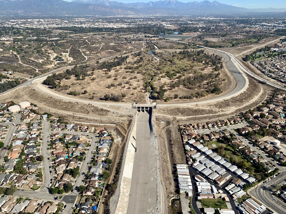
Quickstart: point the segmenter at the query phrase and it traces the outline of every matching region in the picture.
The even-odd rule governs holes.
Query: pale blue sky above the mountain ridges
[[[73,1],[73,0],[64,0],[64,1]],[[115,0],[114,0],[115,1]],[[131,2],[149,2],[156,0],[117,0],[118,2],[131,3]],[[190,2],[194,0],[178,0],[181,2]],[[200,2],[201,0],[197,0]],[[212,0],[210,0],[212,1]],[[245,7],[245,8],[286,8],[286,0],[217,0],[220,3],[233,5],[236,7]]]

